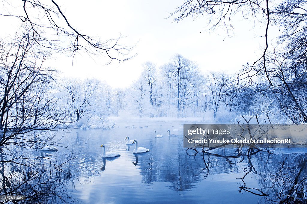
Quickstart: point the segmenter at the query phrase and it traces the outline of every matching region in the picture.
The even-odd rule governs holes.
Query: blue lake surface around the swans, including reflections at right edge
[[[250,156],[235,148],[196,153],[183,147],[182,124],[132,125],[58,132],[64,135],[59,151],[41,152],[44,169],[59,165],[59,171],[44,173],[50,186],[40,187],[41,195],[45,189],[56,191],[46,203],[277,203],[291,194],[292,183],[298,193],[306,187],[305,149]],[[168,136],[172,125],[181,130],[173,132],[177,137]],[[154,129],[163,137],[155,138]],[[127,135],[150,152],[133,154],[135,145],[125,144]],[[121,156],[103,159],[101,144]]]

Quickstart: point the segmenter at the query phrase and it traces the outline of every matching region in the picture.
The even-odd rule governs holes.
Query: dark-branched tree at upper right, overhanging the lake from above
[[[191,0],[178,6],[172,15],[178,22],[187,17],[205,17],[211,30],[223,26],[227,31],[235,31],[238,17],[254,19],[257,28],[265,25],[262,53],[246,64],[240,78],[254,85],[262,84],[262,91],[269,90],[267,93],[275,97],[292,123],[306,123],[307,109],[301,105],[304,97],[299,93],[307,87],[306,3],[306,0]],[[278,26],[277,35],[270,32],[275,29],[273,26]]]

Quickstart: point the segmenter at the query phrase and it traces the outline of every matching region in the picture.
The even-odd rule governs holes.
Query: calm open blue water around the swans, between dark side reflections
[[[129,125],[125,128],[124,124],[117,124],[110,130],[72,129],[65,134],[64,144],[68,148],[60,148],[59,152],[72,148],[80,152],[68,165],[69,171],[77,176],[68,185],[72,197],[77,201],[239,204],[270,203],[267,198],[274,197],[257,194],[261,194],[258,190],[270,192],[272,189],[263,177],[277,171],[286,158],[281,153],[269,155],[260,152],[243,157],[235,149],[220,149],[211,154],[196,154],[192,150],[186,152],[186,148],[183,148],[182,129],[173,132],[178,137],[169,137],[167,129],[172,129],[172,125],[166,123],[157,122],[148,128],[144,127],[146,124],[141,124],[143,128],[136,124],[135,129],[131,128],[132,124]],[[182,126],[174,125],[177,129]],[[155,138],[154,129],[163,137]],[[151,151],[133,154],[135,145],[125,144],[127,135],[130,140],[137,139],[139,147]],[[106,151],[120,152],[121,156],[114,159],[101,158],[101,144],[106,145]],[[248,187],[251,192],[241,190],[240,187]]]

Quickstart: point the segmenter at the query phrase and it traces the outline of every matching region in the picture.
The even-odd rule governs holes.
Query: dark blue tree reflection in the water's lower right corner
[[[307,154],[269,154],[245,156],[248,163],[240,192],[263,196],[264,203],[306,203]],[[259,187],[249,186],[246,178],[257,174]]]

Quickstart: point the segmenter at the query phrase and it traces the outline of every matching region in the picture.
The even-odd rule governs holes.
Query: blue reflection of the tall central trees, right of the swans
[[[160,148],[160,152],[152,149],[150,154],[145,153],[136,157],[142,180],[146,183],[170,182],[170,188],[174,191],[193,188],[195,183],[201,180],[200,168],[204,164],[203,160],[195,155],[181,155],[180,145],[177,149],[172,150],[172,155],[169,155],[168,144],[162,143],[161,145],[166,146]]]

